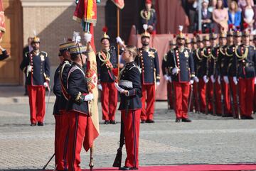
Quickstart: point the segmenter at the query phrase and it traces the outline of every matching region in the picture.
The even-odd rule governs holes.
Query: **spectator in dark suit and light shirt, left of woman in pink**
[[[211,23],[212,23],[212,13],[208,10],[208,0],[203,0],[202,1],[202,31],[203,33],[206,33],[206,31],[211,30]],[[196,13],[196,23],[198,25],[198,12]],[[198,28],[197,28],[198,30]]]

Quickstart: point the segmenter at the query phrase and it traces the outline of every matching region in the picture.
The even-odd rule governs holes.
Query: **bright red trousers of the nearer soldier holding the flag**
[[[87,116],[77,111],[69,111],[68,126],[68,170],[80,171],[80,152],[85,137]]]

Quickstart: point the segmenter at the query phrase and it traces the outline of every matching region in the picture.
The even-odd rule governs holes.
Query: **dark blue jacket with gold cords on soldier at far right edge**
[[[242,57],[242,52],[245,54],[245,57]],[[255,47],[252,45],[240,46],[237,54],[235,53],[238,60],[238,77],[254,78],[256,70]]]

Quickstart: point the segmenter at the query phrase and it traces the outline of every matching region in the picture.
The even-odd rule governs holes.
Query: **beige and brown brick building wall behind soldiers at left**
[[[97,6],[95,46],[100,48],[102,27],[105,26],[105,3]],[[58,66],[58,45],[64,38],[72,38],[73,31],[82,32],[80,23],[73,21],[74,0],[21,0],[23,7],[23,43],[36,31],[41,38],[41,50],[50,57],[52,71]],[[52,77],[53,73],[52,72]]]

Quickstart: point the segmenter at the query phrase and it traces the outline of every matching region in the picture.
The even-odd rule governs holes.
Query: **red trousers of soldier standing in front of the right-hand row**
[[[188,118],[189,82],[174,82],[176,118]]]

